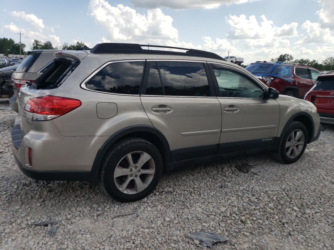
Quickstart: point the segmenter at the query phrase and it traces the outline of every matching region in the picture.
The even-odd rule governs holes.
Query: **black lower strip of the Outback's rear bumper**
[[[36,171],[23,167],[14,154],[16,164],[21,171],[34,180],[43,181],[89,181],[93,185],[99,184],[99,173],[90,171]]]

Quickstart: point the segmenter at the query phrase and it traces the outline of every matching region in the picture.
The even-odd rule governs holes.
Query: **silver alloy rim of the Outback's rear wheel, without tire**
[[[148,153],[131,152],[124,156],[115,168],[115,185],[122,193],[137,194],[151,183],[154,173],[154,160]]]

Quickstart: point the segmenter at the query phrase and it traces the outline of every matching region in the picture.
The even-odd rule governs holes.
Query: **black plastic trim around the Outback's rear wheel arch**
[[[105,143],[102,145],[102,147],[99,149],[98,153],[96,154],[91,172],[99,172],[100,171],[101,164],[102,164],[103,160],[105,159],[105,156],[108,153],[108,150],[111,148],[111,146],[115,142],[117,142],[119,139],[121,139],[124,136],[127,136],[131,133],[136,133],[136,132],[148,132],[148,133],[152,133],[155,136],[157,136],[160,139],[160,141],[162,142],[163,147],[165,149],[166,163],[170,162],[170,147],[169,147],[169,144],[168,144],[168,141],[167,141],[166,137],[159,130],[154,128],[153,126],[134,125],[134,126],[129,126],[129,127],[126,127],[124,129],[119,130],[118,132],[116,132],[115,134],[110,136],[105,141]]]

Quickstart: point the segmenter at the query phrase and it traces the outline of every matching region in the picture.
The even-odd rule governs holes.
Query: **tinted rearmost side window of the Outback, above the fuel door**
[[[86,87],[108,93],[138,95],[143,69],[144,62],[112,63],[89,80]]]

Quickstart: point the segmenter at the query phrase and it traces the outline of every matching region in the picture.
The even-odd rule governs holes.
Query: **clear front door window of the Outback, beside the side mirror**
[[[263,98],[263,92],[245,76],[225,68],[213,68],[221,97]]]

